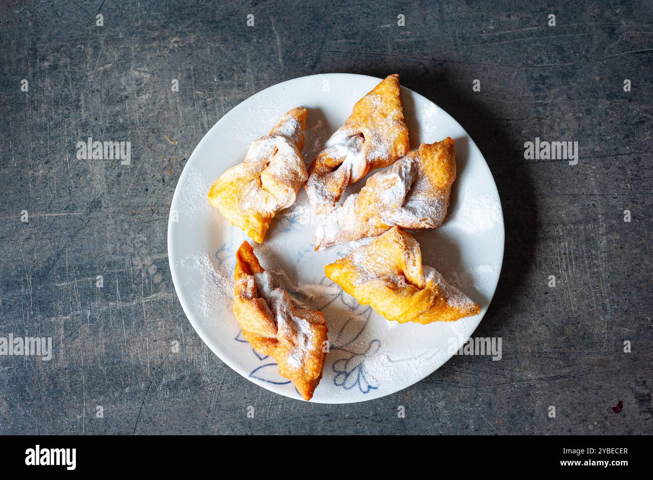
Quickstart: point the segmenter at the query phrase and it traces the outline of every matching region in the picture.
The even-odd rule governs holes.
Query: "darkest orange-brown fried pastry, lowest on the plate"
[[[275,359],[279,374],[310,400],[327,356],[325,317],[296,306],[285,290],[274,287],[247,242],[236,252],[234,314],[253,349]]]

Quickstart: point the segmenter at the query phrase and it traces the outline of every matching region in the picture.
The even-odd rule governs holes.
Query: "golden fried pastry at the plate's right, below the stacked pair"
[[[419,244],[400,227],[325,266],[327,277],[387,320],[421,324],[456,321],[481,312],[430,266]]]

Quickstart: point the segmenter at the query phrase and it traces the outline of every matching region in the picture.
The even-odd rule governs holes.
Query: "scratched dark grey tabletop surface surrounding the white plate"
[[[653,4],[582,3],[3,1],[0,336],[52,336],[54,357],[0,357],[0,433],[653,433]],[[166,244],[189,155],[253,93],[322,72],[399,72],[484,153],[506,242],[475,336],[501,336],[501,361],[308,404],[191,328]],[[131,165],[76,159],[87,136],[130,141]],[[525,160],[535,136],[579,142],[578,165]]]

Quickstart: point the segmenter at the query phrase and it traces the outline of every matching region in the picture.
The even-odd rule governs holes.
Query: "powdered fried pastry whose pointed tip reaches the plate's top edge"
[[[308,167],[306,193],[313,212],[330,212],[347,185],[409,150],[399,75],[392,74],[354,105]]]

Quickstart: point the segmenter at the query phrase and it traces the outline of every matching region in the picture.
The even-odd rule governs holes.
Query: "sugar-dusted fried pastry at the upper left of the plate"
[[[259,244],[270,221],[295,202],[308,178],[301,155],[305,131],[306,108],[293,108],[270,135],[254,140],[242,163],[211,185],[212,206]]]

